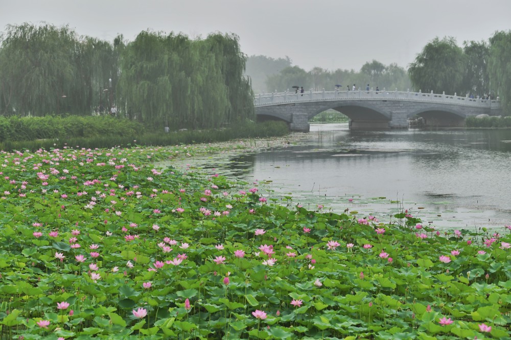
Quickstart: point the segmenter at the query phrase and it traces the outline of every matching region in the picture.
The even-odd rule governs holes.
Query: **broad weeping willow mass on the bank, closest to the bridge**
[[[236,36],[192,40],[144,31],[121,55],[121,100],[130,117],[152,126],[219,127],[249,119],[245,62]]]

